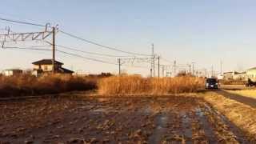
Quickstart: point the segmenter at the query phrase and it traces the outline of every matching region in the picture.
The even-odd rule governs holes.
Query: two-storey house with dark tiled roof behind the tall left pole
[[[32,74],[35,76],[39,76],[42,74],[50,74],[53,71],[58,74],[73,74],[74,71],[68,70],[62,67],[64,65],[62,62],[55,61],[54,66],[52,59],[42,59],[37,62],[32,63],[34,65]]]

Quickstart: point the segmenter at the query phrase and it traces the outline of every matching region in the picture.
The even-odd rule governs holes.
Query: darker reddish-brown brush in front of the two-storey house
[[[97,78],[71,75],[42,76],[31,75],[0,77],[0,97],[55,94],[72,90],[96,89]]]

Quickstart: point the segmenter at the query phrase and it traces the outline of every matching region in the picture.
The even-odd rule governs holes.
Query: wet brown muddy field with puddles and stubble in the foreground
[[[201,98],[0,102],[0,143],[250,143]]]

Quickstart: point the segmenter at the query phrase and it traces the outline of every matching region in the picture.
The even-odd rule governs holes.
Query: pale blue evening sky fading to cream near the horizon
[[[60,30],[119,50],[155,54],[168,60],[163,65],[194,62],[195,69],[214,66],[220,70],[246,70],[256,66],[256,1],[254,0],[2,0],[0,18],[58,25]],[[38,26],[24,26],[0,21],[15,32],[42,31]],[[1,32],[1,31],[0,31]],[[2,31],[4,33],[4,31]],[[42,44],[42,42],[30,43]],[[56,35],[58,45],[101,54],[131,56],[100,46]],[[25,43],[8,43],[24,46]],[[45,45],[45,44],[42,44]],[[50,47],[49,47],[50,48]],[[64,50],[64,49],[63,49]],[[82,54],[68,51],[75,54]],[[117,58],[82,54],[117,63]],[[140,56],[137,56],[138,58]],[[32,68],[31,62],[51,58],[50,52],[32,50],[0,50],[0,70]],[[118,73],[118,66],[94,62],[66,54],[56,54],[64,67],[88,73]],[[130,74],[149,74],[149,63],[126,63],[122,70]],[[133,67],[143,66],[143,68]],[[145,68],[146,66],[146,68]]]

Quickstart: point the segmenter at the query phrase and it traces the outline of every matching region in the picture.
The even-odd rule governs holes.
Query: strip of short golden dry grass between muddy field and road
[[[256,138],[256,110],[254,108],[214,92],[203,94],[203,98],[245,131],[250,138]]]

